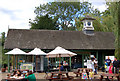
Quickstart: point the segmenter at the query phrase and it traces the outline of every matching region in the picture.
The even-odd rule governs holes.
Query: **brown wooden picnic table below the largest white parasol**
[[[46,79],[51,81],[51,80],[71,80],[73,78],[74,77],[68,75],[68,72],[60,71],[60,72],[51,72],[51,76],[48,76]]]

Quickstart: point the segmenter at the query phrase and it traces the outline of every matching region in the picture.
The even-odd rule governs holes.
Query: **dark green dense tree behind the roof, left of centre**
[[[55,22],[48,15],[45,16],[36,16],[34,21],[29,22],[31,25],[31,29],[51,29],[56,30]]]

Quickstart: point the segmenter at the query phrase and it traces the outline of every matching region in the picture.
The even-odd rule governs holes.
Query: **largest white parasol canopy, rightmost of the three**
[[[46,57],[59,57],[59,56],[60,57],[72,57],[74,55],[77,55],[77,54],[58,46],[53,51],[47,53]]]

